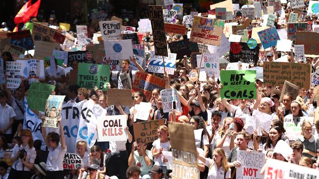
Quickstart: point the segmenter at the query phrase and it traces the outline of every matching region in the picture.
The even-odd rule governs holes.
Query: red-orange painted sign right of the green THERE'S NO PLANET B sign
[[[165,89],[165,81],[163,78],[145,72],[136,72],[132,87],[133,92],[142,91],[149,100],[152,96],[152,90],[156,88],[159,90]]]

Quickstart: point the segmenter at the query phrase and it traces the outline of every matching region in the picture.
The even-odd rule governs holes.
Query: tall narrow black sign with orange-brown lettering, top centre
[[[167,52],[167,45],[166,45],[162,6],[149,5],[149,12],[150,12],[150,20],[152,24],[155,54],[167,57],[168,52]]]

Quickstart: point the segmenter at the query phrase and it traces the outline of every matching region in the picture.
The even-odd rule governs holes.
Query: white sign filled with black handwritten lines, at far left
[[[19,62],[6,62],[6,87],[8,89],[17,89],[21,84],[21,63]]]

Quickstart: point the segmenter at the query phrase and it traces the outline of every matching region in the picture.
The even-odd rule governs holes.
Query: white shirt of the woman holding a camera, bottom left
[[[17,156],[17,153],[19,150],[22,150],[24,147],[22,145],[18,145],[16,144],[14,147],[13,147],[13,150],[12,150],[12,155],[11,157],[15,157]],[[27,152],[27,157],[26,157],[26,161],[28,163],[34,163],[34,160],[35,160],[35,157],[36,157],[36,152],[35,152],[35,148],[32,147],[31,149],[29,148],[29,145],[27,145],[25,148],[24,148]],[[15,170],[18,170],[18,171],[30,171],[30,169],[28,169],[26,166],[23,167],[23,163],[21,161],[21,158],[18,157],[18,159],[12,164],[12,168],[15,169]]]

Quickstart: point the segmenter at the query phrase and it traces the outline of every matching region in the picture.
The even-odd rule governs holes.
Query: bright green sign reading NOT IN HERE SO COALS
[[[220,97],[225,99],[256,99],[255,70],[221,70],[223,88]]]

